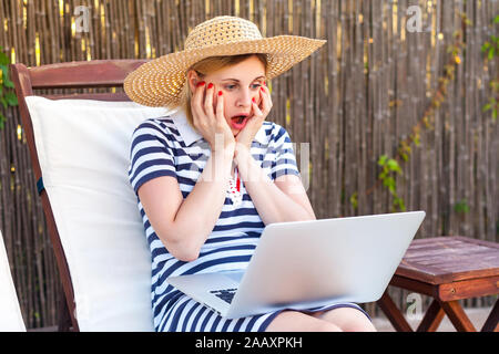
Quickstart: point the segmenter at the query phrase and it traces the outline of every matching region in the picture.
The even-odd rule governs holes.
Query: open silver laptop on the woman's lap
[[[377,301],[425,211],[271,223],[244,271],[166,281],[228,319]]]

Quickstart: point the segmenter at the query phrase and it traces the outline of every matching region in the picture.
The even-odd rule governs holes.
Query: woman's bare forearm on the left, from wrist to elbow
[[[177,247],[191,259],[197,258],[201,247],[215,227],[224,205],[233,153],[213,153],[206,162],[194,188],[182,202],[174,220]]]

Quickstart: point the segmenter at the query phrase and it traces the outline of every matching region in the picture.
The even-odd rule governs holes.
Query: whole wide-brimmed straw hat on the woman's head
[[[146,106],[174,106],[187,70],[208,56],[267,54],[267,79],[273,79],[303,61],[326,41],[298,35],[263,38],[251,21],[222,15],[197,24],[181,52],[162,55],[131,72],[124,80],[129,97]]]

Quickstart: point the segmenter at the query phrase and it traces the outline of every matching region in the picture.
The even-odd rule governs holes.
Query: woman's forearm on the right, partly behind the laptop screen
[[[267,176],[248,150],[237,152],[237,170],[265,225],[315,219]]]

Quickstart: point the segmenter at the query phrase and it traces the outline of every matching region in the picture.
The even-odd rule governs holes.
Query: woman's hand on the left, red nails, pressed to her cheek
[[[217,93],[215,110],[213,106],[214,97],[215,86],[213,84],[207,86],[204,82],[197,84],[191,100],[194,127],[210,144],[212,153],[221,153],[222,150],[233,153],[235,149],[235,138],[225,121],[222,91]]]

